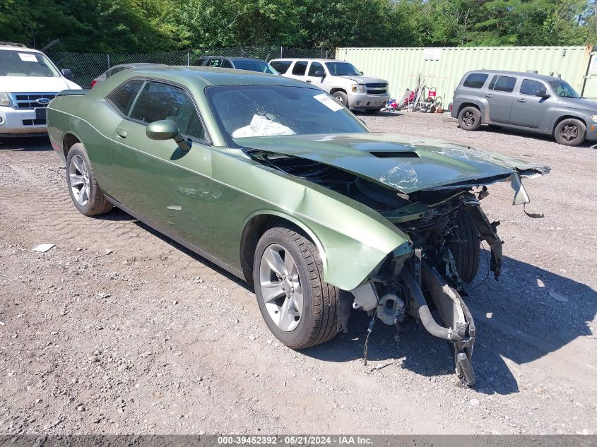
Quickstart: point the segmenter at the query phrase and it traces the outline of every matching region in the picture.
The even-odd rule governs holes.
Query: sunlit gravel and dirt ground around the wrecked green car
[[[118,210],[71,205],[46,139],[0,143],[0,433],[580,434],[597,432],[597,150],[447,115],[363,116],[552,167],[483,201],[504,273],[485,261],[466,298],[478,386],[447,345],[367,318],[302,352],[280,345],[252,290]],[[37,244],[56,246],[41,254]],[[485,257],[483,258],[485,259]]]

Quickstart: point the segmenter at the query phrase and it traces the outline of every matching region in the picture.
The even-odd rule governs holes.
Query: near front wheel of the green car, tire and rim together
[[[278,254],[276,269],[280,273],[285,275],[291,266],[291,275],[286,278],[292,276],[292,280],[271,268],[271,262],[276,260],[272,253]],[[304,349],[331,340],[338,333],[338,289],[324,282],[319,251],[299,232],[275,227],[261,236],[255,250],[253,280],[261,316],[284,345]],[[296,293],[297,285],[302,294]],[[290,287],[292,292],[288,293]],[[297,298],[300,295],[302,305]],[[270,297],[267,304],[264,296]]]

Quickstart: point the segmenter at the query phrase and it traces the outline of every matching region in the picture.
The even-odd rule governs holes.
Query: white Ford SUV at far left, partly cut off
[[[0,137],[47,132],[46,107],[61,90],[80,90],[45,54],[0,42]]]

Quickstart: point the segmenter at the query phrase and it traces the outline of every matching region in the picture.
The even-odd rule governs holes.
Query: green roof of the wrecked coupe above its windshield
[[[203,86],[209,85],[294,85],[308,87],[302,81],[297,81],[275,74],[259,73],[257,71],[236,70],[234,68],[216,68],[206,66],[154,66],[133,68],[126,70],[126,76],[147,76],[182,83],[199,83]],[[118,73],[114,76],[120,76]]]

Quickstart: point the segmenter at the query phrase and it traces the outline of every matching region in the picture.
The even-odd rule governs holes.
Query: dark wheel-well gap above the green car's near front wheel
[[[285,219],[284,217],[270,214],[260,214],[252,217],[252,219],[247,222],[247,225],[245,225],[240,239],[240,266],[242,268],[244,280],[246,280],[249,285],[253,285],[253,258],[259,239],[261,239],[261,236],[267,230],[274,227],[291,228],[314,243],[313,239],[300,227],[297,227],[295,223],[290,222],[290,220]]]

